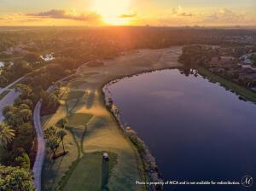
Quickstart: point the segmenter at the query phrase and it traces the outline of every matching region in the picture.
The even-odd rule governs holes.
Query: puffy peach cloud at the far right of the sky
[[[237,23],[244,20],[245,16],[245,14],[236,14],[230,9],[222,8],[213,14],[207,15],[204,21],[212,23]]]

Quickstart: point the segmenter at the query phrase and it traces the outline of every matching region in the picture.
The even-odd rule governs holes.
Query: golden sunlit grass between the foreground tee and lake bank
[[[83,148],[84,153],[107,150],[118,155],[117,165],[108,181],[110,190],[143,190],[143,187],[133,183],[141,180],[138,168],[143,171],[142,164],[135,157],[136,148],[121,135],[110,115],[97,116],[90,120],[87,124]]]

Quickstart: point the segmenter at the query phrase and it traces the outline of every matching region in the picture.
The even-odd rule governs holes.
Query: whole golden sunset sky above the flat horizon
[[[255,0],[0,0],[0,26],[256,26]]]

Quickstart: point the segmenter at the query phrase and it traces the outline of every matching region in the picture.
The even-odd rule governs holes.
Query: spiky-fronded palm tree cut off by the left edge
[[[6,123],[0,123],[0,144],[6,146],[15,138],[15,130],[10,129]]]

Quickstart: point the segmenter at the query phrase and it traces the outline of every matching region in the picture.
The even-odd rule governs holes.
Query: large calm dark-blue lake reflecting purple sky
[[[108,86],[122,123],[137,131],[165,181],[256,178],[256,105],[198,75],[162,70]],[[165,190],[241,191],[243,185],[169,185]]]

